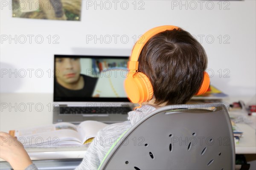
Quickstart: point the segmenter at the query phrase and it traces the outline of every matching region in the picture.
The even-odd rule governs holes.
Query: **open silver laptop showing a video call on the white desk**
[[[129,57],[54,55],[53,123],[127,120],[124,80]]]

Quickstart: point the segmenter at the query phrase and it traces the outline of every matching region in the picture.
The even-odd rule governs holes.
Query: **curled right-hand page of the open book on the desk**
[[[99,130],[106,126],[108,124],[93,120],[81,122],[78,126],[78,131],[82,139],[81,142],[84,144],[88,139],[94,138]]]

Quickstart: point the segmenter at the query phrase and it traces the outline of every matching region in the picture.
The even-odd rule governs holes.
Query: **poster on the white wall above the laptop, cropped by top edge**
[[[80,21],[81,1],[12,0],[12,17]]]

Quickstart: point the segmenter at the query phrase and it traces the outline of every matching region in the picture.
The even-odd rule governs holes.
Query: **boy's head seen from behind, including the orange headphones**
[[[209,88],[206,68],[204,48],[191,34],[176,26],[159,26],[134,45],[125,91],[134,103],[183,104]]]

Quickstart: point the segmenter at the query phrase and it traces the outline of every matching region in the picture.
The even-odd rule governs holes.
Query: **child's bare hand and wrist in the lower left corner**
[[[0,158],[8,161],[13,169],[25,169],[32,164],[28,153],[17,140],[17,137],[0,132],[0,142]]]

